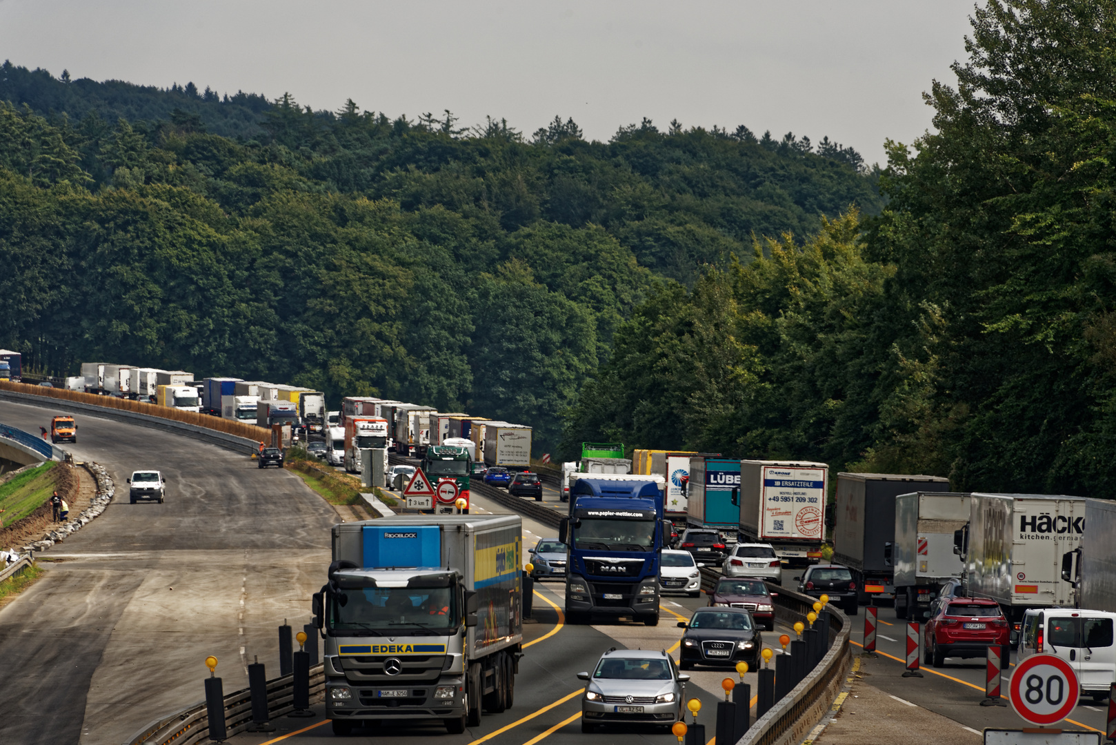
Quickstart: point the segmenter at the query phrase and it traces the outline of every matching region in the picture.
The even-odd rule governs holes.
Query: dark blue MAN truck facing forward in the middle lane
[[[662,477],[583,474],[558,535],[568,546],[566,620],[658,623],[660,553],[670,539]]]

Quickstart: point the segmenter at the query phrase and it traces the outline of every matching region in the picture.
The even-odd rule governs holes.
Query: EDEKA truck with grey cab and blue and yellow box
[[[397,515],[333,528],[325,633],[334,734],[368,720],[452,734],[511,706],[522,651],[522,519]]]

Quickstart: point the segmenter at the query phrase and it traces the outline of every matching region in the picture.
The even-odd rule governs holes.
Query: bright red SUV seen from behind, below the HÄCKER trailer
[[[994,600],[942,598],[931,608],[926,621],[922,660],[940,668],[946,657],[984,657],[992,644],[1000,646],[1000,663],[1011,659],[1011,627]]]

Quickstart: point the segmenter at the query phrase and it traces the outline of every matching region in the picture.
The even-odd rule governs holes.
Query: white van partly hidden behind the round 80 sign
[[[1019,634],[1019,659],[1047,652],[1069,662],[1083,696],[1108,700],[1116,680],[1116,613],[1074,608],[1030,609]]]

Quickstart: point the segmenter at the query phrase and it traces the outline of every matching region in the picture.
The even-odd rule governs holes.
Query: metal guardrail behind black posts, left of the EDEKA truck
[[[268,680],[268,716],[279,717],[295,710],[294,676]],[[326,676],[321,663],[310,668],[310,699],[321,694]],[[229,736],[244,732],[252,722],[252,695],[244,688],[224,697],[224,723]],[[127,745],[191,745],[209,739],[209,714],[205,701],[152,722],[136,733]]]

